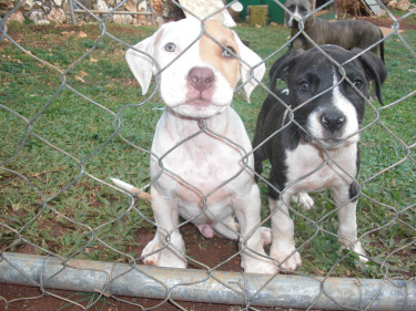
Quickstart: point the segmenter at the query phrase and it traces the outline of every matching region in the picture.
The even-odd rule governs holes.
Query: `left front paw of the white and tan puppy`
[[[143,263],[146,266],[186,268],[186,261],[180,258],[172,250],[164,248],[158,238],[151,240],[142,251]],[[158,251],[159,250],[159,251]]]

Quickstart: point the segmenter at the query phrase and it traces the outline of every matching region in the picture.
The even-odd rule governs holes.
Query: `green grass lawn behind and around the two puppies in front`
[[[133,44],[153,33],[154,28],[108,25],[106,31]],[[283,27],[241,25],[236,32],[263,59],[282,46],[288,35]],[[136,241],[138,230],[153,230],[142,217],[152,218],[150,206],[139,201],[130,211],[126,196],[89,175],[104,182],[111,176],[121,177],[138,186],[150,182],[149,153],[135,146],[150,149],[161,115],[161,111],[154,108],[163,106],[161,99],[156,95],[143,106],[122,108],[140,104],[146,97],[141,95],[124,61],[126,48],[108,35],[98,42],[102,33],[98,25],[9,23],[8,33],[31,54],[61,71],[72,66],[92,46],[95,49],[65,76],[68,84],[91,102],[67,87],[58,91],[62,84],[61,72],[37,62],[10,43],[0,43],[0,103],[24,117],[35,135],[53,145],[33,134],[26,137],[28,122],[0,107],[0,163],[6,162],[0,167],[3,168],[0,169],[0,249],[21,248],[20,234],[26,241],[42,248],[34,249],[39,253],[49,251],[64,257],[118,261],[136,257],[134,248],[141,247]],[[415,46],[415,31],[406,31],[403,37]],[[389,75],[383,95],[387,105],[415,91],[416,60],[397,37],[388,39],[385,45]],[[267,69],[286,50],[271,56]],[[263,82],[268,84],[267,75]],[[154,87],[152,84],[151,91]],[[266,90],[257,87],[251,104],[245,102],[242,92],[235,95],[233,106],[250,136],[266,94]],[[355,256],[338,250],[335,237],[322,231],[316,234],[312,221],[293,215],[297,245],[316,235],[301,249],[302,272],[381,278],[385,273],[384,267],[388,267],[389,276],[415,276],[416,212],[414,207],[408,208],[416,200],[415,164],[408,159],[409,154],[415,158],[415,148],[406,148],[416,142],[414,111],[414,96],[388,108],[381,108],[378,103],[367,107],[364,125],[371,124],[378,112],[381,117],[362,134],[359,182],[366,196],[359,198],[357,215],[364,246],[375,261],[359,263]],[[113,137],[118,112],[122,123],[120,133],[131,145],[119,136]],[[18,151],[18,156],[9,160]],[[400,160],[402,164],[373,178]],[[23,175],[33,187],[10,170]],[[264,184],[261,188],[265,217]],[[39,205],[42,196],[48,200],[44,209]],[[317,221],[333,209],[333,201],[328,191],[314,198],[316,208],[303,215]],[[318,226],[336,234],[336,216],[331,215]],[[365,234],[369,230],[372,234]],[[206,248],[201,241],[201,249]],[[334,266],[339,259],[343,260]]]

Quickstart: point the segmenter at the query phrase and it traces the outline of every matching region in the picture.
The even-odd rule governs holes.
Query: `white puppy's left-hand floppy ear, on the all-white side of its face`
[[[140,41],[133,45],[125,53],[125,59],[133,72],[135,79],[142,86],[142,94],[148,93],[150,82],[152,81],[152,74],[158,72],[158,63],[153,59],[155,45],[159,38],[162,34],[163,29],[158,30],[152,37]]]

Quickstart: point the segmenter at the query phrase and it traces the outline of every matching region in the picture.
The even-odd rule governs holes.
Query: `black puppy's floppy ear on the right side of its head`
[[[387,77],[387,69],[383,63],[382,59],[378,58],[373,52],[365,52],[363,53],[362,49],[354,48],[351,50],[354,54],[359,54],[359,61],[362,62],[365,74],[368,81],[374,80],[375,84],[375,94],[377,96],[378,102],[383,104],[382,100],[382,84],[386,81]]]

